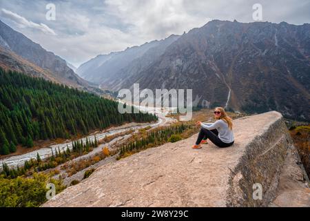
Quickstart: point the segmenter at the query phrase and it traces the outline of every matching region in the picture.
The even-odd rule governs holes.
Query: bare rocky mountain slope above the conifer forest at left
[[[1,63],[4,68],[25,70],[32,75],[43,75],[61,84],[96,91],[95,84],[85,81],[68,67],[67,62],[34,43],[25,35],[0,21]],[[4,61],[4,59],[6,59]]]

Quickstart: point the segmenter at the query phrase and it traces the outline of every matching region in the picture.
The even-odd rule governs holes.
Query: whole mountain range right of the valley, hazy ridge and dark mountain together
[[[76,73],[110,90],[192,88],[200,105],[310,120],[310,24],[213,20],[98,55]]]

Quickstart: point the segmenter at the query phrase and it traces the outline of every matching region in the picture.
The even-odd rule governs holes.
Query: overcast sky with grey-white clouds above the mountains
[[[54,3],[56,19],[46,5]],[[253,22],[254,3],[262,21],[310,23],[310,0],[1,0],[0,19],[74,66],[112,51],[182,35],[212,19]]]

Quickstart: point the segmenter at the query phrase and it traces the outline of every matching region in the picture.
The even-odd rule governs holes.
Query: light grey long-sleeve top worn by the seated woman
[[[228,124],[223,119],[218,119],[214,123],[201,123],[203,128],[207,130],[218,130],[218,138],[224,143],[231,143],[234,141],[234,132],[229,129]]]

